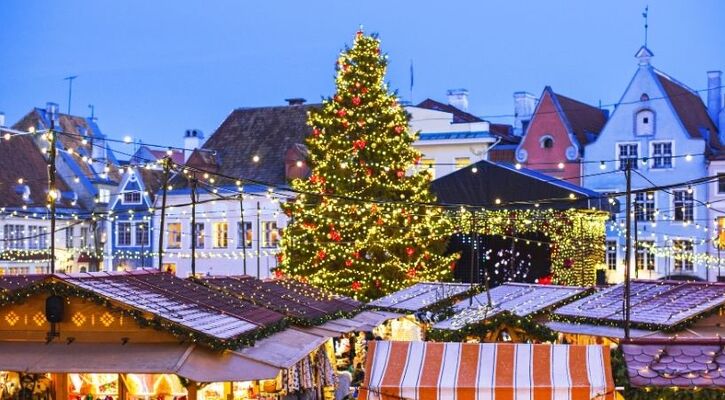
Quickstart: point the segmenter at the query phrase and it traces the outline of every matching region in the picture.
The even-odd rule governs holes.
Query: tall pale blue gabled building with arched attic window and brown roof
[[[642,47],[637,71],[597,139],[586,147],[584,186],[602,193],[625,190],[624,170],[632,169],[632,189],[671,185],[705,177],[707,158],[721,149],[718,131],[702,99],[692,89],[657,70],[653,53]],[[623,197],[618,198],[625,204]],[[706,185],[639,191],[633,195],[631,276],[657,279],[685,275],[712,279],[707,263],[709,220]],[[604,268],[610,281],[624,274],[626,211],[612,216]]]

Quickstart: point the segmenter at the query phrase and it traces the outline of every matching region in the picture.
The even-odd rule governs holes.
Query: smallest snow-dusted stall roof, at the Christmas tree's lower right
[[[393,311],[418,312],[471,290],[470,284],[422,282],[368,303],[368,306]]]

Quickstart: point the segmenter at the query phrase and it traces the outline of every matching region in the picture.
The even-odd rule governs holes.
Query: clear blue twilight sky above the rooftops
[[[46,101],[95,105],[110,137],[180,145],[236,107],[319,101],[358,26],[378,32],[388,79],[413,101],[470,91],[470,110],[511,114],[512,93],[545,85],[616,102],[636,68],[649,7],[653,63],[694,89],[725,70],[725,1],[2,0],[0,111],[13,124]],[[490,118],[510,122],[510,118]]]

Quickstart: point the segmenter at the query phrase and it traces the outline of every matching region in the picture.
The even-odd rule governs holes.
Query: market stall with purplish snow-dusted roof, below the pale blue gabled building
[[[634,280],[630,337],[714,337],[725,324],[725,283]],[[619,343],[624,338],[624,285],[557,308],[546,325],[567,343]]]

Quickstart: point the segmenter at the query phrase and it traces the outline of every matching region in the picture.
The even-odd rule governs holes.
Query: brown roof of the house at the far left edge
[[[6,131],[0,129],[0,136]],[[9,132],[7,132],[9,133]],[[22,178],[20,184],[18,179]],[[27,186],[30,197],[23,199],[21,186]],[[62,177],[57,179],[57,188],[63,192],[70,189]],[[0,207],[42,207],[45,208],[48,193],[48,162],[29,135],[18,135],[10,140],[0,140]],[[76,207],[70,198],[61,196],[58,206]]]

